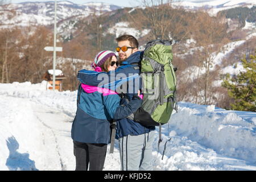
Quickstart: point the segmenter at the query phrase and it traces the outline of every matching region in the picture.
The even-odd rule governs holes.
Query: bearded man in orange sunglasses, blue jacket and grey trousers
[[[118,75],[127,77],[127,92],[123,93],[121,105],[126,105],[127,101],[138,94],[140,84],[134,78],[140,72],[139,65],[143,52],[138,51],[138,40],[132,35],[122,35],[117,40],[118,47],[116,51],[119,55],[119,67],[116,71],[108,73],[95,73],[93,71],[80,71],[77,78],[84,84],[92,86],[110,86],[116,85],[120,79]],[[113,74],[114,73],[114,74]],[[132,76],[131,76],[132,75]],[[102,81],[102,78],[103,79]],[[130,80],[129,80],[130,79]],[[113,81],[114,80],[114,81]],[[132,81],[132,82],[131,82]],[[138,85],[139,84],[139,85]],[[118,87],[118,86],[117,86]],[[114,88],[115,89],[115,88]],[[118,92],[120,93],[120,92]],[[155,127],[144,127],[140,123],[133,121],[132,117],[123,118],[117,121],[116,139],[119,142],[121,170],[123,171],[150,171],[152,170],[152,143],[154,140]]]

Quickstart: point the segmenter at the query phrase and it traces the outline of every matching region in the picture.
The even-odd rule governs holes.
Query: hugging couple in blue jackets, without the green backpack
[[[138,40],[132,35],[122,35],[115,40],[119,60],[114,52],[101,51],[92,63],[94,71],[82,70],[78,75],[81,84],[71,130],[77,171],[102,171],[113,120],[116,121],[115,139],[119,143],[121,170],[152,170],[155,126],[144,127],[129,119],[142,104],[143,96],[135,90],[138,85],[131,84],[134,92],[123,96],[98,86],[97,78],[101,74],[139,73],[143,52],[138,51]]]

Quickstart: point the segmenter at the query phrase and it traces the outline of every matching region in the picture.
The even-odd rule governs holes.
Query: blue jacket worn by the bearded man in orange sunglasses
[[[119,67],[116,71],[110,71],[108,73],[96,73],[93,71],[82,70],[77,75],[77,78],[84,84],[101,86],[103,88],[109,88],[116,91],[119,89],[121,84],[126,84],[127,81],[129,81],[127,86],[127,90],[129,90],[129,92],[125,93],[125,96],[129,101],[131,101],[131,98],[133,98],[134,94],[137,94],[138,89],[141,88],[141,80],[138,82],[140,73],[138,64],[140,63],[142,56],[143,52],[137,51],[129,56],[126,61],[123,61],[122,66]],[[122,98],[120,104],[127,104],[126,99]],[[155,130],[154,126],[144,127],[138,122],[128,118],[123,118],[117,121],[116,138],[124,137],[129,134],[141,135],[144,133],[149,133],[152,130]]]

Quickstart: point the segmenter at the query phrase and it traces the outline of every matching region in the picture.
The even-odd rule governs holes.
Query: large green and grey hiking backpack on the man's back
[[[134,114],[134,121],[143,126],[159,126],[177,111],[176,68],[172,65],[172,42],[153,40],[146,44],[141,61],[142,106]]]

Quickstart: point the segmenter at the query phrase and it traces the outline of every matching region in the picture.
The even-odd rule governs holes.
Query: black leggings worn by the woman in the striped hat
[[[73,141],[76,171],[102,171],[108,144]],[[89,165],[90,164],[90,165]]]

